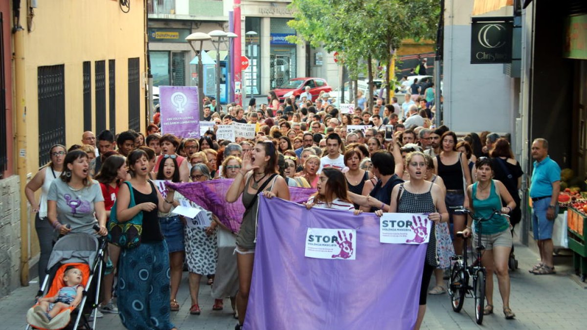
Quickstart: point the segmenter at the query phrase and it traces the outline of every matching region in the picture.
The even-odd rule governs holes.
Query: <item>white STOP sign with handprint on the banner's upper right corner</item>
[[[430,240],[432,221],[424,214],[383,213],[379,241],[390,244],[423,244]]]

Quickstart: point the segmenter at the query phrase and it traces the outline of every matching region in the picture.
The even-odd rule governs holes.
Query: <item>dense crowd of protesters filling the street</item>
[[[370,109],[356,107],[353,113],[340,113],[328,93],[315,100],[304,96],[280,102],[274,92],[269,97],[267,105],[257,107],[251,102],[246,111],[234,103],[220,107],[214,100],[205,100],[203,119],[214,126],[199,139],[161,134],[157,113],[145,135],[133,130],[115,135],[104,130],[95,137],[93,132],[84,132],[79,145],[52,146],[48,150],[50,163],[26,186],[26,196],[37,213],[39,269],[46,265],[52,242],[59,235],[106,235],[106,220],[116,201],[119,220],[143,213],[142,244],[123,251],[109,244],[112,264],[104,277],[100,311],[120,313],[129,329],[173,329],[170,311],[181,308],[176,297],[185,264],[190,314],[202,311],[198,291],[205,276],[215,298],[210,309],[222,310],[224,299],[230,298],[239,329],[251,286],[257,194],[289,200],[289,187],[311,187],[316,193],[308,200],[308,208],[378,215],[429,213],[434,225],[416,328],[426,311],[426,295],[447,291],[443,271],[450,267],[451,256],[463,251],[456,232],[471,234],[470,220],[449,207],[468,206],[480,214],[498,207],[510,213],[511,220],[496,215],[483,226],[490,234],[484,235],[487,251],[483,264],[489,275],[484,312],[493,311],[491,274],[495,270],[504,314],[515,316],[509,306],[507,258],[512,248],[510,230],[521,218],[518,189],[523,173],[506,139],[489,132],[457,136],[446,126],[434,127],[436,110],[430,95],[414,98],[408,93],[402,105],[395,98],[395,105],[383,105],[378,99]],[[218,140],[217,125],[232,122],[254,124],[254,139]],[[349,130],[351,125],[369,127]],[[393,126],[392,136],[386,135],[386,125]],[[226,179],[234,181],[225,200],[232,203],[242,197],[245,206],[238,233],[232,233],[207,210],[209,227],[187,228],[185,218],[171,213],[184,197],[171,188],[163,193],[153,184],[153,180]],[[39,188],[42,193],[37,201],[34,193]],[[134,206],[130,205],[131,196]],[[76,208],[70,206],[72,198],[77,199]],[[97,233],[92,229],[96,221],[100,225]],[[149,280],[136,274],[137,263],[152,272]],[[540,267],[537,271],[544,273],[546,268]],[[433,274],[436,285],[429,291]],[[116,275],[118,306],[112,300]],[[129,282],[133,282],[132,289]],[[147,294],[153,289],[156,295]],[[151,307],[137,311],[133,301],[148,301]]]

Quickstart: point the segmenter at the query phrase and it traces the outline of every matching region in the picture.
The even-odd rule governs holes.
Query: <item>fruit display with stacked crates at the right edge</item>
[[[587,211],[580,205],[568,207],[568,243],[573,251],[573,267],[581,281],[585,282],[587,275],[587,245],[585,243],[584,228],[587,225]],[[583,206],[585,207],[585,206]]]

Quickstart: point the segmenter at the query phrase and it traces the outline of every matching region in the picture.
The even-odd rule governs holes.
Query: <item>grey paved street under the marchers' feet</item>
[[[532,275],[528,269],[537,262],[535,251],[521,245],[516,246],[520,269],[511,273],[511,307],[517,318],[505,320],[501,313],[501,298],[495,283],[495,314],[485,316],[483,327],[474,321],[473,301],[465,300],[463,311],[452,311],[447,295],[429,296],[429,308],[424,318],[423,329],[580,329],[587,324],[587,290],[572,280],[571,257],[555,257],[556,275]],[[187,273],[185,273],[187,274]],[[36,281],[36,279],[35,279]],[[434,284],[434,280],[431,285]],[[9,297],[0,299],[0,329],[22,329],[25,326],[26,309],[32,305],[36,282],[29,287],[16,289]],[[202,314],[190,315],[187,277],[184,276],[178,301],[179,312],[173,314],[173,322],[183,330],[234,329],[230,301],[225,300],[225,310],[212,312],[213,299],[210,287],[201,286],[200,307]],[[97,322],[97,329],[124,329],[117,315],[107,314]]]

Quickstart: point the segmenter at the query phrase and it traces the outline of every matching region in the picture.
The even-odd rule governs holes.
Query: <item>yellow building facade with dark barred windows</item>
[[[12,18],[22,28],[12,33],[21,284],[39,252],[24,188],[49,147],[82,144],[86,130],[146,128],[146,1],[129,2],[130,10],[114,0],[38,1],[36,8],[22,0],[19,21]]]

